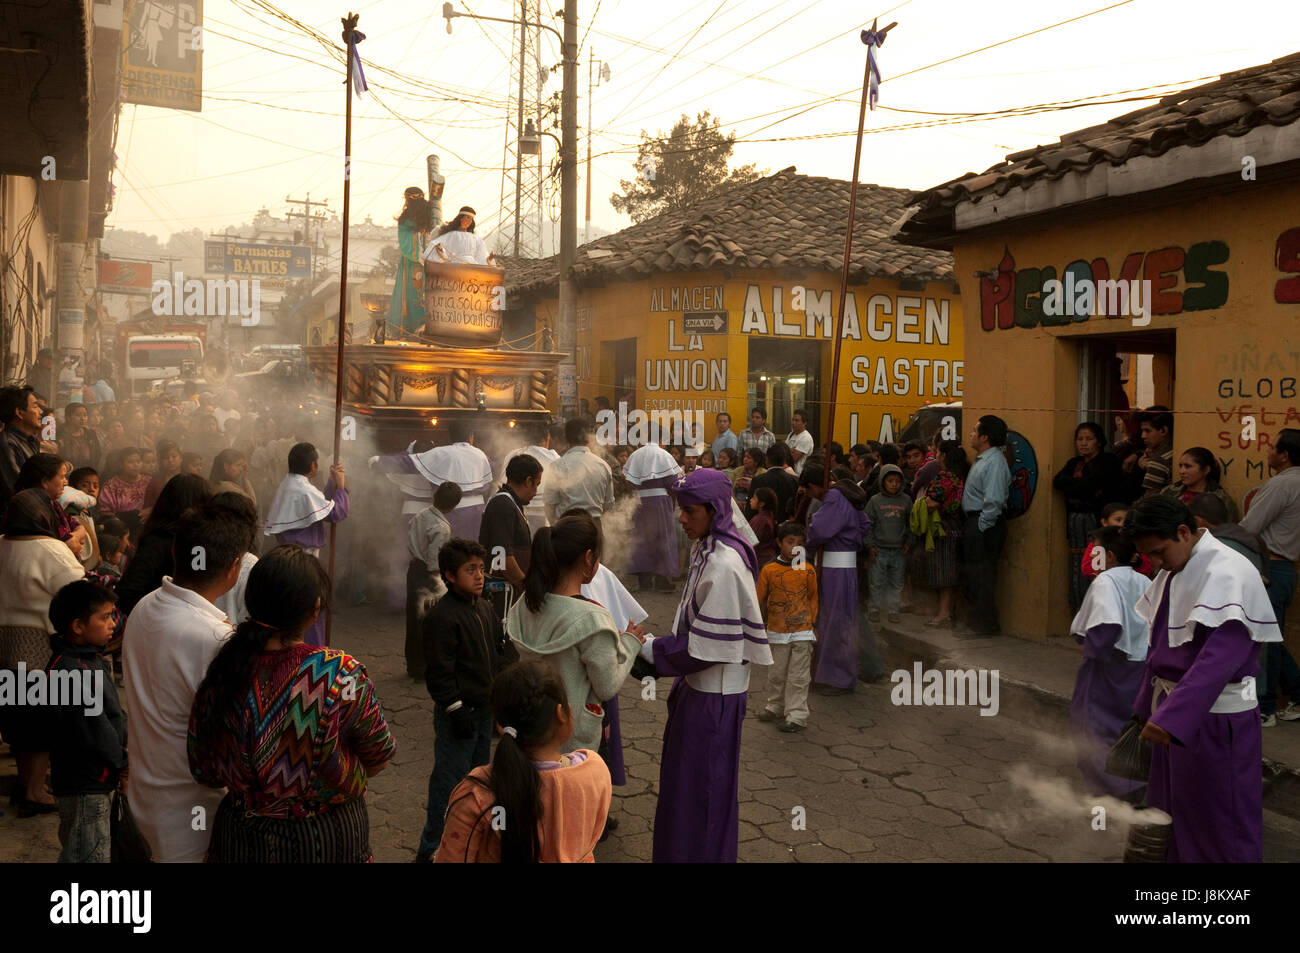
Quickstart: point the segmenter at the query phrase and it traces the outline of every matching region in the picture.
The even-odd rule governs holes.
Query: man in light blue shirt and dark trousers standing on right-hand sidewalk
[[[975,463],[966,476],[962,493],[962,550],[966,558],[966,598],[971,611],[966,619],[968,632],[958,638],[987,638],[1002,634],[997,621],[997,560],[1006,542],[1006,495],[1011,486],[1011,468],[1006,465],[1006,421],[984,415],[971,432]]]

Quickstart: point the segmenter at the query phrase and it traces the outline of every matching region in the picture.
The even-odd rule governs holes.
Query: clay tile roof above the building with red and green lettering
[[[1258,126],[1286,126],[1296,120],[1300,53],[1225,73],[1212,83],[1062,135],[1060,142],[1011,153],[980,174],[967,173],[918,192],[919,211],[901,235],[923,241],[926,234],[948,231],[953,207],[1006,195],[1015,186],[1027,189],[1039,179],[1087,173],[1102,163],[1123,165],[1138,156],[1156,157],[1179,146],[1201,146],[1218,137],[1240,137]]]

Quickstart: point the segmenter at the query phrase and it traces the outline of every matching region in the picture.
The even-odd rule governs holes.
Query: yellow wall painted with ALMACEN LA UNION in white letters
[[[699,411],[705,438],[712,439],[719,412],[731,413],[733,429],[748,423],[750,341],[818,341],[824,346],[814,376],[824,426],[837,295],[838,274],[829,272],[750,270],[731,278],[720,270],[675,273],[582,289],[578,397],[593,407],[597,395],[616,399],[608,345],[632,338],[634,406]],[[850,287],[850,295],[833,436],[845,447],[879,438],[885,415],[897,434],[923,404],[961,399],[965,380],[961,302],[952,282],[902,290],[896,281],[872,280]],[[554,320],[552,306],[538,306],[540,324]],[[684,312],[722,312],[725,333],[693,335],[684,329]],[[824,433],[815,436],[826,439]]]

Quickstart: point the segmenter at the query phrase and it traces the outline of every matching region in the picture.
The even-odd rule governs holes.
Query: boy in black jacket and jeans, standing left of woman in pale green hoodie
[[[482,598],[488,550],[451,540],[438,553],[447,594],[424,620],[424,683],[433,697],[433,774],[416,861],[426,863],[442,840],[447,798],[471,768],[491,754],[491,680],[519,658],[500,616]]]

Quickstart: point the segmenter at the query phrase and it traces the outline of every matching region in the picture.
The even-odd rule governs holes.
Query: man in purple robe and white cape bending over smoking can
[[[1251,562],[1180,501],[1148,497],[1124,530],[1160,568],[1138,614],[1150,649],[1134,712],[1153,742],[1147,803],[1174,819],[1171,863],[1264,859],[1260,642],[1282,638]]]

